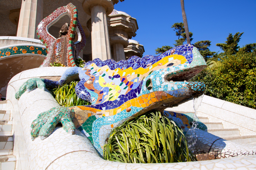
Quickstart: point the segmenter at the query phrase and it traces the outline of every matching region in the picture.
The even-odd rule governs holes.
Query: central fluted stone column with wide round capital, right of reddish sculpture
[[[84,0],[83,9],[91,15],[92,59],[111,59],[107,15],[114,5],[111,0]]]

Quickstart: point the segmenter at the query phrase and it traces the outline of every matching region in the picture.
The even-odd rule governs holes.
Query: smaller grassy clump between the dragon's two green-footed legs
[[[75,92],[75,86],[77,83],[78,81],[72,81],[70,84],[59,86],[58,88],[50,90],[50,92],[61,106],[71,107],[90,105],[89,102],[86,102],[77,97]]]

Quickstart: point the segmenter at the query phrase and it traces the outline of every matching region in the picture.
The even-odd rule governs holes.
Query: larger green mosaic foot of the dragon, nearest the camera
[[[71,119],[71,111],[66,107],[54,107],[37,116],[31,124],[31,138],[41,136],[41,139],[48,137],[55,129],[56,125],[61,122],[66,132],[75,133],[75,126]]]

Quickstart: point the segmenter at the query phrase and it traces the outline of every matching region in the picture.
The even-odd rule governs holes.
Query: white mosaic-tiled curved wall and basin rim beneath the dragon
[[[13,116],[14,124],[14,154],[17,157],[18,170],[34,169],[255,169],[256,156],[240,156],[215,159],[210,161],[164,163],[164,164],[124,164],[103,160],[94,149],[88,138],[76,130],[75,135],[66,133],[63,128],[56,128],[48,138],[34,141],[30,137],[31,122],[41,112],[47,111],[58,104],[48,91],[35,89],[25,92],[19,101],[15,92],[28,78],[39,76],[61,76],[65,67],[42,67],[23,71],[14,76],[7,88],[7,110]],[[200,132],[199,132],[200,133]],[[199,136],[200,134],[195,134]],[[204,136],[207,137],[207,136]],[[224,141],[225,145],[229,142]],[[207,141],[206,141],[207,144]],[[224,152],[228,152],[225,150]],[[219,145],[220,146],[220,145]],[[232,145],[234,147],[234,145]],[[238,146],[240,147],[240,146]],[[253,147],[251,147],[252,149]],[[233,149],[234,150],[234,149]],[[235,150],[233,151],[235,152]],[[254,152],[254,151],[252,151]],[[245,153],[246,154],[246,153]],[[225,154],[224,154],[225,155]],[[242,154],[241,154],[242,155]]]

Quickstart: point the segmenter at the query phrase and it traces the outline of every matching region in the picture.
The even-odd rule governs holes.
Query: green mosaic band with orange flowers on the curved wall
[[[47,55],[47,49],[37,46],[13,46],[8,48],[0,49],[0,57],[6,57],[9,55],[16,55],[16,54],[41,54]]]

